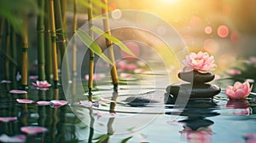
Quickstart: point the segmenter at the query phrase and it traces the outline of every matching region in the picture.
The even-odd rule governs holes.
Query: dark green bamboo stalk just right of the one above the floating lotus
[[[44,5],[45,79],[47,81],[50,81],[50,77],[52,75],[53,61],[49,26],[49,0],[46,0]]]

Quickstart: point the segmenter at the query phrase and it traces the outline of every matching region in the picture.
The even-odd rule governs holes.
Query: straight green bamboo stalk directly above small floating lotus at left
[[[37,31],[38,31],[38,80],[45,80],[44,72],[44,0],[38,0],[38,9],[42,12],[38,14]]]

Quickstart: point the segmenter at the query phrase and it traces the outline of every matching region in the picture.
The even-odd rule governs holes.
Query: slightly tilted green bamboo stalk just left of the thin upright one
[[[66,47],[67,47],[67,41],[64,35],[64,27],[62,25],[62,17],[61,17],[61,3],[60,0],[54,0],[54,8],[55,8],[55,26],[56,26],[56,34],[57,34],[57,44],[58,48],[61,52],[61,66],[63,66],[61,69],[66,70],[65,72],[67,75],[62,75],[62,77],[65,77],[67,81],[69,81],[69,70],[68,70],[68,62],[67,62],[67,56],[65,55]],[[64,64],[62,64],[64,62]]]

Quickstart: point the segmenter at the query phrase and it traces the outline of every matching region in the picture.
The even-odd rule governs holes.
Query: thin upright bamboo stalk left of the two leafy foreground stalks
[[[73,0],[73,35],[78,29],[77,0]],[[77,46],[76,38],[73,37],[73,77],[77,75]]]

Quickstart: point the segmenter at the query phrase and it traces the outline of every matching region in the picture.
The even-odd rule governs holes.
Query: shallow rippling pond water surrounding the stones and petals
[[[129,75],[129,74],[128,74]],[[25,134],[24,126],[45,127],[39,134],[25,134],[26,142],[246,142],[256,133],[255,95],[247,100],[229,100],[221,91],[213,100],[189,100],[178,105],[166,95],[166,83],[151,87],[152,76],[164,80],[165,74],[147,72],[120,79],[119,93],[111,84],[98,83],[93,106],[87,94],[73,88],[28,89],[28,94],[9,94],[11,83],[0,84],[0,117],[17,117],[0,122],[0,134]],[[123,75],[124,76],[124,75]],[[126,75],[127,76],[127,75]],[[131,74],[132,76],[132,74]],[[140,77],[138,82],[137,77]],[[109,79],[108,79],[109,80]],[[108,81],[107,80],[107,81]],[[129,84],[125,84],[129,81]],[[216,81],[220,86],[231,80]],[[68,84],[73,87],[76,82]],[[223,88],[222,87],[222,88]],[[85,88],[84,88],[85,89]],[[16,99],[67,100],[58,108],[21,104]]]

